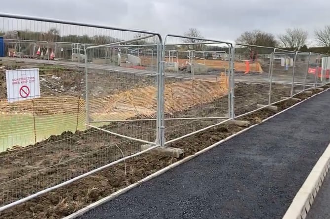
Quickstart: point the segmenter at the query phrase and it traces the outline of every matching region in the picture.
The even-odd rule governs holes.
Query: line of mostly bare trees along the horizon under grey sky
[[[184,33],[187,37],[203,38],[201,32],[197,28],[190,28]],[[113,38],[107,35],[61,35],[60,31],[56,28],[50,28],[47,32],[34,32],[29,30],[20,31],[0,31],[0,36],[6,39],[20,39],[20,40],[38,40],[48,42],[68,42],[68,43],[82,43],[82,44],[109,44],[119,42],[122,39]],[[140,35],[137,35],[138,38]],[[323,29],[314,31],[314,38],[317,42],[317,48],[313,48],[318,53],[330,54],[330,25],[325,26]],[[309,51],[308,31],[301,28],[288,28],[284,34],[275,36],[272,33],[264,32],[261,30],[253,30],[243,32],[236,40],[239,44],[258,45],[267,47],[286,48],[293,51]],[[192,49],[204,51],[217,51],[218,46],[198,44],[203,40],[197,39],[183,39],[183,43],[193,43],[194,45],[175,46],[173,49]],[[204,41],[205,42],[205,41]],[[150,44],[145,40],[139,40],[132,44]]]

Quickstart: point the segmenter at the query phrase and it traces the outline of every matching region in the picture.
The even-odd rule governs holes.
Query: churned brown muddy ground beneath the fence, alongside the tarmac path
[[[251,89],[251,91],[247,92],[249,89]],[[244,83],[237,85],[235,103],[236,114],[242,114],[248,111],[249,108],[246,109],[247,105],[249,105],[250,109],[254,109],[256,107],[255,103],[264,99],[263,95],[256,95],[256,89],[258,89],[258,91],[262,89],[266,91],[267,87],[264,85]],[[313,94],[319,92],[316,89],[312,91]],[[283,85],[281,85],[278,87],[278,92],[276,96],[280,98],[288,94],[289,88],[284,88]],[[297,98],[304,99],[311,95],[312,94],[299,94]],[[241,99],[238,96],[241,96]],[[226,101],[226,98],[215,100],[210,104],[195,106],[195,109],[178,112],[170,116],[190,116],[193,112],[196,112],[195,115],[200,115],[200,110],[198,109],[201,108],[209,109],[206,113],[210,116],[219,115],[217,109],[222,108],[223,105],[227,103]],[[247,104],[247,101],[250,101],[251,104]],[[289,100],[281,102],[277,104],[277,106],[280,109],[284,109],[294,103],[296,102]],[[251,124],[256,124],[273,114],[274,112],[264,109],[240,119],[248,120]],[[133,125],[139,126],[139,124],[130,123],[131,124],[124,125],[113,123],[103,128],[111,131],[120,131],[123,126],[125,126],[126,129],[127,127],[132,128]],[[151,122],[149,125],[154,125],[152,123],[154,122]],[[172,131],[168,131],[170,136],[167,135],[167,138],[182,136],[182,133],[178,131],[183,129],[183,127],[179,126],[181,125],[180,122],[177,121],[174,123],[172,121],[171,123],[171,125],[176,126],[176,128],[173,127]],[[186,133],[189,133],[207,124],[214,124],[214,121],[190,121],[190,124],[184,125],[184,129]],[[219,125],[178,140],[168,146],[183,148],[185,150],[184,156],[189,156],[242,129],[243,127],[236,125]],[[145,134],[144,139],[149,141],[154,139],[154,130],[150,130],[148,134],[139,132],[139,130],[141,131],[141,129],[136,129],[136,131],[132,133],[137,136]],[[43,142],[31,145],[29,148],[4,152],[0,154],[0,182],[10,179],[13,180],[13,176],[15,176],[15,178],[17,176],[22,176],[22,179],[13,180],[8,184],[0,184],[0,203],[3,205],[5,201],[17,200],[19,197],[34,193],[41,188],[53,186],[66,179],[87,172],[88,170],[110,163],[120,158],[122,153],[124,156],[128,156],[131,153],[139,151],[139,146],[140,143],[132,141],[123,142],[123,139],[119,137],[91,129],[86,132],[77,132],[75,134],[65,132],[60,136],[52,136]],[[180,159],[182,158],[183,157]],[[97,174],[1,212],[0,218],[59,219],[176,161],[177,159],[175,158],[163,155],[143,154],[127,160],[126,163],[112,166]]]

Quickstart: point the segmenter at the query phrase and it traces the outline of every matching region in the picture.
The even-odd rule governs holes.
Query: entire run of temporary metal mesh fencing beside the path
[[[8,56],[0,71],[0,211],[329,82],[328,57],[315,53],[0,19]],[[5,70],[24,68],[39,69],[41,97],[10,103]]]

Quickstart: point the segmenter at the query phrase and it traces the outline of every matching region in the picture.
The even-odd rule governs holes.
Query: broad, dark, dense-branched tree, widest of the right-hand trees
[[[278,42],[275,36],[271,33],[266,33],[260,30],[246,31],[236,39],[236,43],[276,47]]]

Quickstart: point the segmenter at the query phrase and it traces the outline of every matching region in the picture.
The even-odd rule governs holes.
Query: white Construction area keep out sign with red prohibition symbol
[[[39,69],[6,70],[8,103],[40,97]]]

